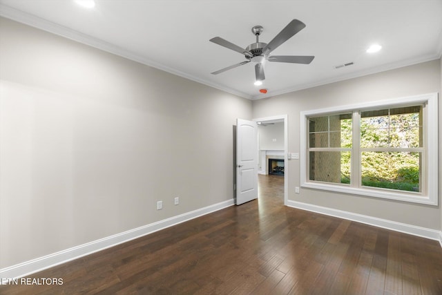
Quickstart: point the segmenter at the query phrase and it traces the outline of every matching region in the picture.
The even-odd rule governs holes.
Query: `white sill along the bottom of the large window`
[[[319,182],[305,182],[301,184],[301,187],[305,187],[308,189],[320,189],[323,191],[332,191],[334,193],[348,193],[358,196],[382,198],[388,200],[398,200],[403,202],[413,202],[413,203],[437,206],[437,198],[434,198],[432,200],[430,196],[421,196],[418,193],[401,193],[385,189],[369,189],[369,188],[361,189],[357,187],[347,187],[345,184],[327,184]]]

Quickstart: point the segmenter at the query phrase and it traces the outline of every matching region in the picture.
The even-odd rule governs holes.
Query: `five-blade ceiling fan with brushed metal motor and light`
[[[265,60],[271,62],[288,62],[291,64],[310,64],[311,61],[315,58],[314,56],[299,56],[299,55],[269,55],[273,50],[278,48],[285,41],[293,37],[297,32],[305,28],[305,23],[302,21],[298,21],[298,19],[294,19],[289,22],[285,28],[283,28],[276,37],[274,37],[269,44],[265,44],[259,41],[259,36],[262,32],[262,26],[254,26],[251,28],[251,32],[256,36],[256,43],[250,44],[245,49],[240,48],[221,37],[214,37],[209,41],[218,44],[220,46],[224,46],[225,48],[229,48],[231,50],[235,50],[238,53],[244,55],[247,59],[246,61],[242,61],[239,64],[234,64],[233,66],[228,66],[227,68],[222,68],[221,70],[217,70],[211,74],[218,75],[220,73],[225,72],[226,70],[231,70],[232,68],[236,68],[237,66],[242,66],[243,64],[248,64],[250,61],[255,64],[255,75],[256,82],[262,82],[265,79],[264,75],[264,64]]]

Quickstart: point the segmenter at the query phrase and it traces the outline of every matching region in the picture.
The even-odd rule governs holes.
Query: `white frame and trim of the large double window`
[[[367,111],[375,108],[395,108],[401,106],[412,106],[417,104],[424,105],[423,118],[423,142],[425,157],[421,173],[425,173],[422,184],[425,189],[421,193],[396,191],[390,189],[378,189],[372,187],[352,187],[343,184],[334,184],[331,182],[315,182],[308,178],[309,157],[308,157],[308,120],[309,117],[321,115],[335,115],[338,113],[353,113],[355,111]],[[358,196],[369,196],[374,198],[385,198],[390,200],[401,200],[405,202],[415,202],[420,204],[438,205],[439,190],[439,120],[438,120],[438,94],[427,93],[423,95],[414,95],[410,97],[399,97],[396,99],[386,99],[377,102],[367,102],[365,104],[353,104],[347,106],[333,106],[331,108],[320,108],[311,111],[300,112],[300,183],[301,187],[310,189],[321,189],[325,191],[334,191],[336,193],[349,193]],[[355,121],[355,118],[353,118]],[[354,122],[355,124],[355,122]],[[357,122],[359,124],[359,122]],[[356,131],[353,131],[356,132]],[[355,148],[355,147],[354,147]],[[353,149],[354,149],[353,148]],[[357,148],[357,147],[356,147]],[[359,157],[352,151],[352,167],[359,165]],[[355,160],[357,162],[355,162]],[[358,169],[360,170],[360,169]],[[352,173],[353,174],[353,173]]]

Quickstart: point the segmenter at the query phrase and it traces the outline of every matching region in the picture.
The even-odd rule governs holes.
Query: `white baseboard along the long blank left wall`
[[[92,242],[59,251],[57,253],[32,259],[24,263],[19,263],[18,265],[12,265],[11,267],[0,269],[0,278],[7,279],[28,276],[30,274],[40,272],[41,270],[48,269],[49,267],[54,267],[55,265],[60,265],[61,263],[66,263],[70,260],[93,254],[94,252],[119,245],[123,242],[128,242],[129,240],[152,234],[155,231],[160,231],[161,229],[177,225],[193,218],[198,218],[208,213],[230,207],[233,204],[233,199],[219,202],[217,204],[197,209],[195,211],[190,211],[178,216],[173,216],[171,218],[160,220],[158,222],[153,222],[149,225],[137,227],[136,229],[124,231],[120,234],[115,234],[113,236],[94,240]]]

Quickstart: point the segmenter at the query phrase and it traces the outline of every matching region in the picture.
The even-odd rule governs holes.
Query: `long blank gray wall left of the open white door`
[[[0,21],[0,268],[233,198],[251,101]]]

